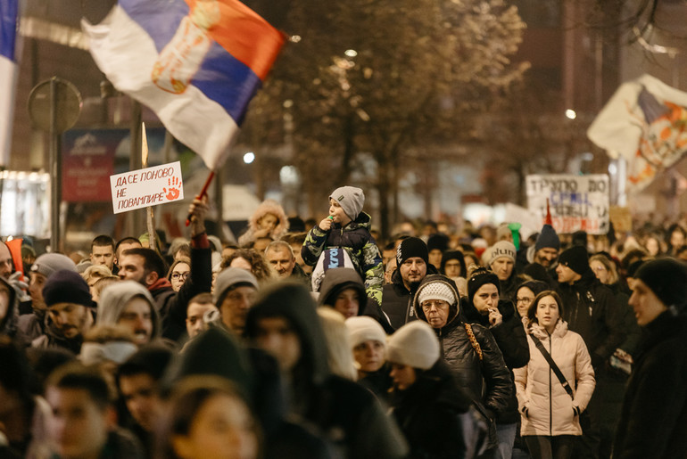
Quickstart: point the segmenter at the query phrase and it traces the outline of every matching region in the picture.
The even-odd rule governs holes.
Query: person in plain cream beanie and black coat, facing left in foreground
[[[432,327],[422,321],[405,324],[388,347],[392,414],[408,439],[410,457],[475,457],[468,433],[471,402],[443,362]]]

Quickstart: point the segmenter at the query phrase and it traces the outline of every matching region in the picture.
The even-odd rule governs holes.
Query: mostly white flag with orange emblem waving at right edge
[[[687,93],[643,75],[621,85],[587,136],[627,161],[627,190],[639,192],[687,152]]]

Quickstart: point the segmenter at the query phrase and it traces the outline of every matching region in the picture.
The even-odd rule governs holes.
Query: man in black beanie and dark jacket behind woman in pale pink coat
[[[587,345],[596,375],[595,394],[605,393],[608,383],[612,383],[607,362],[627,336],[625,311],[617,303],[613,291],[594,275],[586,248],[574,246],[564,250],[556,274],[565,306],[563,320]],[[587,457],[608,457],[610,454],[613,426],[602,422],[603,402],[600,396],[594,396],[587,407],[591,425],[578,442],[581,454]]]

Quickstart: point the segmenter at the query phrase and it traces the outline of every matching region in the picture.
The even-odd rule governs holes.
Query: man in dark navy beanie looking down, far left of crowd
[[[46,332],[31,342],[34,348],[66,348],[79,355],[84,334],[94,323],[88,284],[73,271],[51,275],[43,288],[47,307]]]

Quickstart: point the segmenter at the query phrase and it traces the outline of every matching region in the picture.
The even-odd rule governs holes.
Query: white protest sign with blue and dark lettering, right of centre
[[[546,217],[549,199],[551,220],[559,234],[584,230],[588,234],[608,233],[608,176],[527,176],[527,206]]]

